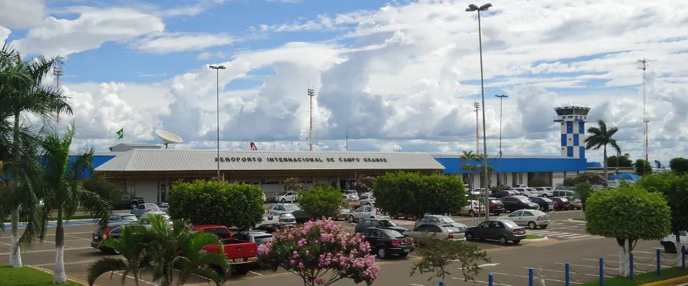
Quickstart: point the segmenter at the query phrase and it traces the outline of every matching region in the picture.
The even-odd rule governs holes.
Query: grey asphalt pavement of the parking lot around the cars
[[[580,217],[582,212],[563,211],[550,214],[551,225],[546,230],[528,230],[529,233],[548,236],[548,241],[540,243],[522,243],[521,245],[499,245],[498,243],[475,241],[469,242],[477,245],[482,250],[488,252],[491,261],[483,263],[482,272],[475,277],[478,284],[486,284],[488,274],[492,273],[495,285],[522,286],[528,285],[528,268],[533,267],[536,274],[537,285],[563,285],[565,264],[570,263],[572,271],[572,285],[580,285],[587,281],[596,279],[599,273],[599,259],[605,260],[605,273],[610,276],[616,274],[613,267],[618,265],[618,247],[614,239],[604,239],[600,236],[592,236],[585,233],[584,224],[568,221],[575,217]],[[455,220],[466,225],[475,225],[470,217],[455,217]],[[413,221],[395,220],[401,226],[412,228]],[[347,228],[353,225],[341,222]],[[106,254],[90,247],[92,232],[95,225],[70,224],[65,227],[65,269],[69,278],[78,281],[86,280],[86,269],[90,263],[105,257]],[[9,260],[10,238],[0,237],[0,261]],[[25,265],[34,265],[52,270],[54,267],[54,228],[48,229],[45,241],[34,243],[31,248],[22,249],[22,261]],[[640,241],[636,246],[636,267],[640,270],[654,270],[654,263],[649,261],[654,258],[656,248],[660,248],[657,241]],[[670,254],[663,254],[670,255]],[[117,257],[117,256],[114,256]],[[676,261],[676,259],[667,259]],[[436,281],[428,281],[431,277],[428,274],[417,274],[409,276],[411,266],[420,259],[411,253],[406,259],[386,259],[380,261],[380,276],[375,285],[409,285],[409,286],[429,286],[437,285]],[[649,261],[649,262],[647,262]],[[645,262],[645,263],[641,263]],[[447,276],[450,285],[451,281],[463,280],[460,264],[452,265],[449,270],[451,275]],[[121,274],[105,274],[98,278],[97,285],[115,286],[120,283]],[[539,281],[539,282],[537,282]],[[192,277],[189,284],[199,283],[198,285],[208,285],[202,277]],[[202,284],[200,284],[202,283]],[[269,270],[255,269],[246,276],[235,276],[230,278],[228,285],[270,285],[277,284],[282,286],[303,285],[303,281],[293,274],[279,270],[271,272]],[[353,285],[351,281],[339,281],[335,285]],[[125,285],[134,285],[131,278],[127,279]],[[156,285],[152,281],[150,274],[144,274],[141,285]],[[460,284],[462,285],[462,284]]]

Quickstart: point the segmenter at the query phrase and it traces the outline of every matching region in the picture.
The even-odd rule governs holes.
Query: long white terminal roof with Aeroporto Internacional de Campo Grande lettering
[[[133,149],[101,172],[216,170],[217,151]],[[444,170],[427,153],[220,151],[221,170]]]

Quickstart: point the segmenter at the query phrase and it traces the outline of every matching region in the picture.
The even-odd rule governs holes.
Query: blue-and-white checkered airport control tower
[[[561,123],[561,155],[585,159],[585,122],[590,107],[555,107],[555,122]]]

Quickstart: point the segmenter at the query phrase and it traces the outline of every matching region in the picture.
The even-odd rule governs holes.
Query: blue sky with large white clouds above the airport
[[[592,108],[586,127],[605,120],[622,153],[644,157],[643,58],[649,158],[685,155],[682,2],[492,1],[480,22],[488,155],[499,151],[500,114],[504,155],[560,155],[554,108],[576,104]],[[157,129],[183,138],[173,148],[215,148],[219,125],[221,148],[308,150],[312,88],[315,150],[475,152],[470,3],[0,0],[0,44],[65,58],[74,114],[61,125],[74,124],[74,149],[160,143]]]

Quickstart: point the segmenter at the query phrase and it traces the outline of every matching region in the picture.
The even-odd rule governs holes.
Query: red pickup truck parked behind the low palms
[[[249,241],[233,239],[232,232],[224,225],[194,225],[193,230],[219,236],[224,245],[206,245],[202,250],[210,253],[219,253],[219,248],[224,247],[224,255],[227,256],[229,264],[234,267],[239,275],[248,273],[256,261],[258,261],[258,245]]]

